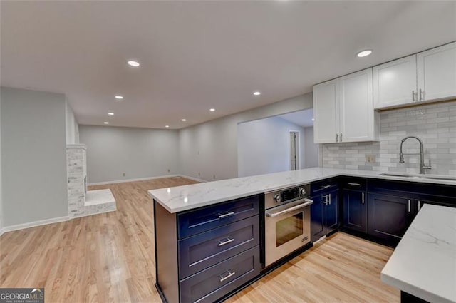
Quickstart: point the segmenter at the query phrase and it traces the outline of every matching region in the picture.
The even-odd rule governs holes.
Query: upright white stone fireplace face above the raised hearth
[[[68,177],[68,216],[85,215],[86,189],[84,178],[87,175],[86,145],[66,145],[66,165]]]

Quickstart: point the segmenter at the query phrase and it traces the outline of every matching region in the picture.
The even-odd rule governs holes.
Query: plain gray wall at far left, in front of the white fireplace
[[[1,88],[4,226],[68,216],[65,96]]]

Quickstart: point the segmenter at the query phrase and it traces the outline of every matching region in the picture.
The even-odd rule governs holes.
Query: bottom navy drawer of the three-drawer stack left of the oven
[[[259,246],[180,282],[180,302],[214,302],[260,273]]]

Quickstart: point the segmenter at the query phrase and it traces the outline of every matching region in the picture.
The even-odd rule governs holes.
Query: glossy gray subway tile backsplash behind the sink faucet
[[[456,175],[456,100],[380,113],[380,141],[323,144],[323,167],[419,173],[420,155],[404,155],[400,140],[415,135],[423,140],[426,173]],[[408,139],[403,152],[420,153],[417,140]]]

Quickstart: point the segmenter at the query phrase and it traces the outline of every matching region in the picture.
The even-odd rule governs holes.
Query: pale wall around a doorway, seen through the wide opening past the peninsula
[[[279,117],[239,123],[239,177],[290,170],[290,130],[299,132],[299,168],[304,168],[304,128]]]

